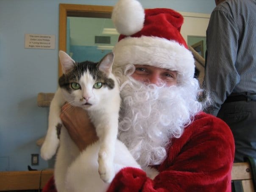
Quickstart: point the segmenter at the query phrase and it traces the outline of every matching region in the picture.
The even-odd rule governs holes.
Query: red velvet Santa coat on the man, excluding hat
[[[127,167],[115,176],[108,192],[229,192],[234,160],[234,139],[222,120],[200,113],[172,140],[167,159],[154,180]],[[56,192],[53,179],[43,192]]]

